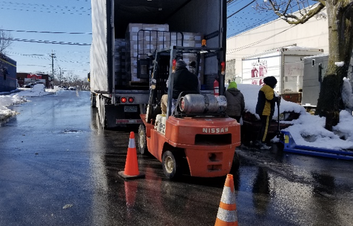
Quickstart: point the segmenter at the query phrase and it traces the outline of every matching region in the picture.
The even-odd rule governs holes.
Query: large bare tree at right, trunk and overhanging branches
[[[310,3],[317,3],[310,5]],[[339,120],[343,109],[341,98],[343,77],[347,76],[353,50],[353,1],[352,0],[262,0],[256,4],[259,11],[273,10],[288,24],[303,24],[320,16],[326,7],[329,31],[329,62],[317,103],[316,114],[326,116],[326,127]],[[293,9],[298,9],[298,14]],[[339,67],[335,62],[343,62]]]

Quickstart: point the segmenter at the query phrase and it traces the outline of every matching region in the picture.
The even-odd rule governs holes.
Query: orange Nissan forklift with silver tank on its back
[[[205,40],[203,40],[205,42]],[[205,46],[205,44],[203,45]],[[226,116],[225,96],[202,92],[182,92],[172,112],[173,75],[183,54],[196,55],[196,75],[202,54],[217,56],[218,77],[224,79],[225,63],[220,48],[181,47],[156,50],[149,54],[150,96],[146,114],[140,117],[138,147],[160,162],[167,178],[180,175],[219,177],[237,171],[240,124]],[[171,65],[171,66],[170,66]],[[167,114],[161,114],[160,101],[168,84]],[[219,87],[223,94],[224,87]]]

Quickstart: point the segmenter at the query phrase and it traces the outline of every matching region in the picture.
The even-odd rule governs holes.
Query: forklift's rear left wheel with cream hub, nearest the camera
[[[179,161],[171,151],[166,151],[162,156],[162,167],[163,172],[167,178],[176,178],[181,174],[181,168],[179,166]]]

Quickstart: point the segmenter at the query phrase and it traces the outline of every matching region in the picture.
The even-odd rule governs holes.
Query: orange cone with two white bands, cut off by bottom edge
[[[215,226],[238,226],[233,175],[228,174],[224,184]]]

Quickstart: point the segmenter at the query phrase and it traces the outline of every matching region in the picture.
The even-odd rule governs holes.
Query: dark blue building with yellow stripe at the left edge
[[[0,92],[10,92],[16,88],[16,61],[0,54]]]

